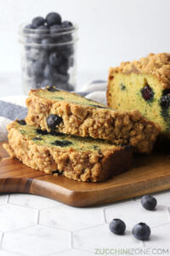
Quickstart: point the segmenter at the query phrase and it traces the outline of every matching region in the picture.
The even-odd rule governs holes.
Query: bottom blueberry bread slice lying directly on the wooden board
[[[8,144],[3,147],[26,166],[83,182],[99,182],[127,171],[133,156],[130,146],[42,131],[25,121],[8,125]]]

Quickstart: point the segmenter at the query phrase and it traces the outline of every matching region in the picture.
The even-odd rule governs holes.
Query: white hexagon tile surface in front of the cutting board
[[[140,198],[76,208],[37,195],[0,195],[0,256],[148,255],[148,249],[170,255],[170,191],[155,196],[158,206],[150,212]],[[111,233],[112,218],[125,221],[124,236]],[[150,241],[132,236],[139,222],[150,225]]]

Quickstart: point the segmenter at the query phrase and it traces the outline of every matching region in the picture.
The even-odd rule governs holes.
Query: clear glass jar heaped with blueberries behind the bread
[[[21,68],[25,94],[29,90],[55,86],[63,90],[76,87],[77,26],[62,21],[57,13],[46,19],[36,17],[20,26]]]

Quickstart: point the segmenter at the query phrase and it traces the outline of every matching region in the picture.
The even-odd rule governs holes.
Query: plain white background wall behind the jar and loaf
[[[170,51],[170,0],[0,0],[0,72],[20,71],[20,23],[50,11],[79,26],[78,71]]]

